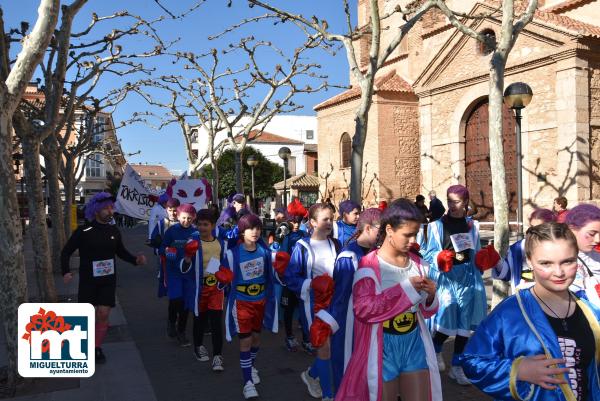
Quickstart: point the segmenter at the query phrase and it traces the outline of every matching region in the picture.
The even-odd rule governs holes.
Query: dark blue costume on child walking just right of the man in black
[[[167,262],[167,295],[169,299],[183,299],[185,309],[194,310],[194,294],[196,290],[195,274],[193,269],[182,271],[183,247],[190,239],[200,239],[200,233],[194,226],[183,228],[177,223],[171,226],[163,237],[159,254],[166,257]],[[166,248],[176,248],[175,255],[167,255]]]

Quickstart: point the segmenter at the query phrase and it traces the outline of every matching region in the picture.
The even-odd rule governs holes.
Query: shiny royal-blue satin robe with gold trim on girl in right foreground
[[[594,334],[595,356],[587,370],[587,401],[600,400],[600,310],[577,300]],[[531,289],[519,290],[505,299],[479,325],[464,353],[463,370],[471,383],[495,400],[568,401],[576,399],[568,384],[555,390],[518,381],[520,357],[546,354],[563,359],[558,338]],[[565,367],[560,364],[559,367]],[[567,383],[568,378],[565,375]],[[565,387],[566,386],[566,387]],[[570,394],[568,394],[570,393]]]

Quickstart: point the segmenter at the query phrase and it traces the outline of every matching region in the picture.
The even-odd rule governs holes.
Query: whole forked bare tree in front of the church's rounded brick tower
[[[439,3],[439,1],[413,2],[406,8],[397,5],[393,10],[382,13],[379,4],[381,0],[369,0],[367,2],[367,24],[361,27],[353,27],[349,2],[348,0],[344,0],[343,9],[347,25],[347,30],[344,33],[331,32],[329,24],[324,18],[316,16],[306,18],[301,14],[294,14],[260,0],[248,0],[248,2],[251,5],[257,5],[268,10],[284,22],[294,22],[310,38],[321,38],[327,42],[339,42],[343,44],[348,64],[350,65],[350,73],[358,83],[361,91],[359,104],[354,115],[356,125],[354,136],[352,137],[352,156],[350,160],[350,198],[361,203],[363,152],[367,138],[368,116],[374,94],[376,74],[385,65],[390,55],[396,50],[402,39],[417,21],[429,9]],[[386,21],[394,15],[401,15],[404,20],[404,24],[399,28],[386,25]],[[386,46],[383,46],[381,42],[384,30],[395,30]],[[365,58],[365,63],[361,63],[355,48],[357,41],[361,38],[369,40],[369,54]]]

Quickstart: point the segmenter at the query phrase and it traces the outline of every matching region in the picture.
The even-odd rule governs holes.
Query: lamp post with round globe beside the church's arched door
[[[523,238],[523,155],[521,152],[521,109],[531,102],[533,92],[524,82],[515,82],[504,90],[504,102],[515,111],[517,122],[517,237]]]

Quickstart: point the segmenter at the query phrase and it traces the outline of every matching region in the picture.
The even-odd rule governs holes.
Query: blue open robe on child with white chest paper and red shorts
[[[234,336],[238,334],[237,323],[235,313],[235,303],[239,299],[240,301],[257,301],[260,299],[266,299],[265,314],[263,319],[263,326],[273,333],[278,331],[278,305],[277,297],[275,296],[275,271],[273,270],[271,251],[264,245],[264,242],[258,242],[256,244],[256,251],[247,252],[242,249],[243,245],[239,244],[229,249],[223,258],[222,266],[232,270],[233,281],[225,289],[225,295],[227,296],[227,310],[225,317],[225,337],[227,341],[231,341]],[[257,254],[258,252],[258,254]],[[251,254],[251,256],[248,256]],[[259,256],[260,255],[260,256]],[[240,269],[240,263],[244,263],[244,258],[263,258],[264,271],[259,277],[254,277],[250,280],[245,280],[242,271]],[[246,291],[243,293],[238,288],[249,288],[249,287],[261,288],[263,291],[259,291],[260,294],[252,295],[254,292]]]

